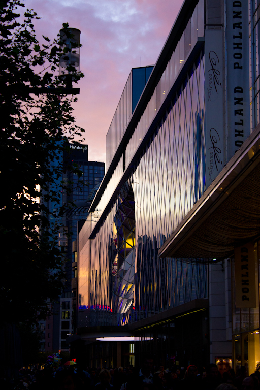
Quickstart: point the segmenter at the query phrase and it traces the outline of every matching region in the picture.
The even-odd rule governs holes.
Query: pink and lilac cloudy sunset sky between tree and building
[[[132,68],[155,64],[183,0],[24,0],[41,19],[35,30],[54,39],[62,23],[81,30],[80,70],[73,104],[85,129],[88,158],[106,160],[106,134]]]

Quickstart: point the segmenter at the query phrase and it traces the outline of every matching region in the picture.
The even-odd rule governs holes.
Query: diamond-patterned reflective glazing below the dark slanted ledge
[[[89,325],[125,324],[207,297],[206,265],[158,257],[205,189],[204,80],[201,53],[90,240]]]

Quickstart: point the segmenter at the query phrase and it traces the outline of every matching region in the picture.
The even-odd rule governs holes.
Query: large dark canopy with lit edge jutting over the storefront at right
[[[260,125],[159,250],[160,257],[226,258],[260,235]]]

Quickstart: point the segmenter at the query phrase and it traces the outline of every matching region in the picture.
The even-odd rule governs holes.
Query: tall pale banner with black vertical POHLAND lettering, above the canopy
[[[228,161],[250,135],[248,0],[226,0]]]

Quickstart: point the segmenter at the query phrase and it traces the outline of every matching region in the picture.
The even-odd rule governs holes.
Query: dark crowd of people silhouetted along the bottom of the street
[[[260,390],[257,368],[248,376],[241,366],[237,373],[229,363],[220,361],[207,367],[163,365],[155,367],[153,359],[144,359],[140,369],[84,368],[80,364],[44,369],[22,368],[17,381],[1,377],[2,390]],[[110,389],[111,388],[111,389]]]

